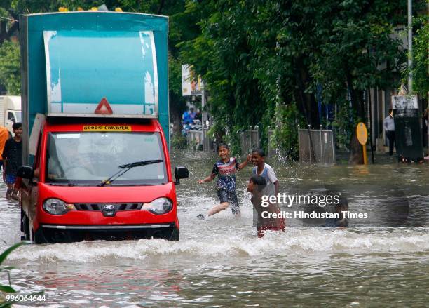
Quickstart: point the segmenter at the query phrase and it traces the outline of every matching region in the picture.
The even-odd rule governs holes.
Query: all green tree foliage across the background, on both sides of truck
[[[426,3],[414,1],[418,8]],[[10,41],[20,13],[76,11],[106,4],[168,15],[170,112],[184,111],[181,65],[193,65],[210,95],[212,133],[237,145],[239,130],[259,129],[262,143],[297,154],[297,124],[325,125],[320,103],[338,107],[337,137],[365,119],[365,91],[397,87],[406,50],[394,34],[406,1],[393,0],[5,0],[0,5],[0,83],[17,92],[18,47]],[[6,18],[6,19],[5,19]],[[415,25],[416,91],[428,93],[427,16]],[[18,64],[19,65],[19,64]]]

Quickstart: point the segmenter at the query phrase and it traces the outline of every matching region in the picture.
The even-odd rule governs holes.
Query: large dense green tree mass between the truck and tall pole
[[[400,72],[403,52],[391,34],[404,20],[404,5],[189,0],[186,13],[199,17],[201,33],[182,43],[182,57],[210,89],[214,130],[233,138],[237,130],[257,124],[262,135],[268,126],[279,129],[293,113],[275,111],[290,104],[318,128],[318,86],[325,103],[343,104],[350,97],[350,114],[363,119],[364,91],[394,85]]]

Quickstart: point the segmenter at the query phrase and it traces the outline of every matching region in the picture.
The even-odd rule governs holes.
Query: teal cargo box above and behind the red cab
[[[158,119],[169,140],[167,17],[21,15],[20,48],[24,140],[36,114]],[[103,98],[112,114],[95,114]],[[28,148],[24,142],[25,163]]]

